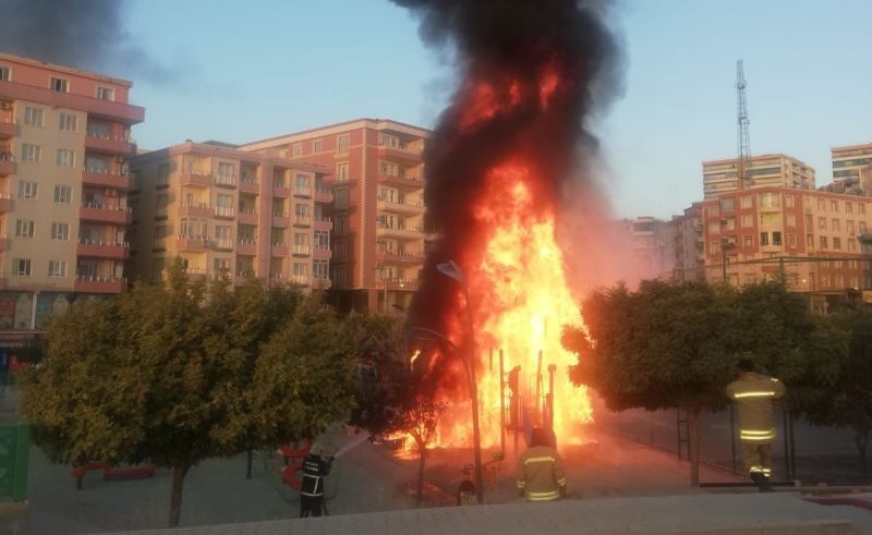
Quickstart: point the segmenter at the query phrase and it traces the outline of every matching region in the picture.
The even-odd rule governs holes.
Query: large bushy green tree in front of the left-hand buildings
[[[254,283],[189,280],[177,263],[165,283],[52,318],[49,357],[23,381],[37,443],[59,463],[171,469],[178,525],[185,475],[199,461],[313,436],[349,410],[332,314],[314,295],[292,319],[268,317],[269,295]]]

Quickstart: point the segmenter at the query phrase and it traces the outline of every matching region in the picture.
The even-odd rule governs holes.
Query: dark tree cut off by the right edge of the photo
[[[846,311],[820,318],[815,341],[815,358],[808,366],[807,388],[797,404],[812,424],[853,430],[860,474],[868,483],[872,311]]]

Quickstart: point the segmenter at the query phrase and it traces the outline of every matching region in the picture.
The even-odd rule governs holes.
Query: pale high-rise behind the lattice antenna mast
[[[702,162],[702,183],[705,200],[738,190],[738,159]],[[791,187],[814,190],[814,169],[797,158],[777,154],[751,158],[744,189]]]

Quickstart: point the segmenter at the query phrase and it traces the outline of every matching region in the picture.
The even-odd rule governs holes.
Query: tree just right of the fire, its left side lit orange
[[[735,379],[738,358],[750,355],[762,369],[799,370],[810,332],[804,303],[779,283],[737,291],[654,280],[634,292],[619,284],[593,292],[583,312],[586,332],[564,332],[564,345],[579,355],[572,381],[596,390],[610,410],[686,409],[694,486],[702,413],[727,404],[724,388]]]

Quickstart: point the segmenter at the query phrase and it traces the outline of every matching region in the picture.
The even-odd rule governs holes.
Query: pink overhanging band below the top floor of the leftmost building
[[[138,106],[72,93],[53,92],[47,87],[36,87],[16,82],[0,82],[0,97],[38,102],[53,108],[86,111],[96,118],[119,121],[125,124],[141,123],[145,120],[145,109]]]

